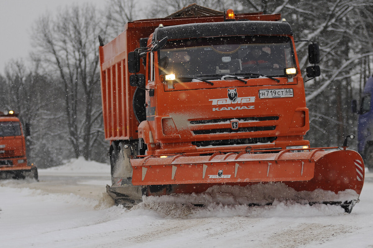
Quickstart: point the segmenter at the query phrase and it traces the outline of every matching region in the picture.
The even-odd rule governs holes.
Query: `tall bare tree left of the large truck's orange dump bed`
[[[98,35],[105,22],[93,6],[72,6],[58,15],[45,15],[34,29],[35,54],[59,84],[68,140],[74,157],[91,158],[91,150],[102,134]],[[101,137],[102,138],[102,137]]]

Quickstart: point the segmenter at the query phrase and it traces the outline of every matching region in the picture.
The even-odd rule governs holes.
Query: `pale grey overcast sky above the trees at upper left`
[[[106,0],[0,0],[0,74],[11,59],[27,62],[31,47],[31,26],[40,15],[66,5],[90,2],[104,8]]]

